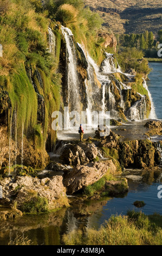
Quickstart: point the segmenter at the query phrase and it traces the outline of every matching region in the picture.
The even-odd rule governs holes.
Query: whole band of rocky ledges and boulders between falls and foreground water
[[[161,135],[161,123],[148,121],[147,133]],[[155,128],[154,128],[155,127]],[[159,129],[159,130],[158,130]],[[69,207],[69,196],[79,202],[87,198],[118,196],[128,192],[127,178],[119,175],[125,168],[140,168],[147,172],[161,163],[161,141],[150,139],[120,141],[111,131],[103,138],[89,137],[83,142],[59,141],[58,161],[50,162],[42,172],[31,167],[0,170],[2,199],[0,219],[7,220],[23,213],[39,214]],[[116,178],[117,177],[117,178]],[[77,198],[77,199],[76,199]]]

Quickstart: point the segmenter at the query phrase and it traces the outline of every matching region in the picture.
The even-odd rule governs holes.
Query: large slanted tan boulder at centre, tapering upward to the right
[[[68,174],[64,175],[63,184],[68,194],[73,194],[88,185],[94,184],[107,172],[115,174],[116,166],[112,160],[105,162],[88,163],[86,166],[76,166]]]

